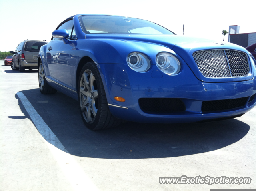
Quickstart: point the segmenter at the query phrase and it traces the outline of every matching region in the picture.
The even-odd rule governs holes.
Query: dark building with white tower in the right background
[[[230,25],[228,30],[228,42],[240,45],[242,47],[250,46],[256,43],[256,32],[239,33],[240,26]]]

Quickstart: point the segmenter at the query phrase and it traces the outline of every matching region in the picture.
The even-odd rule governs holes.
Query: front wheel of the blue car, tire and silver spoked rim
[[[110,113],[100,72],[94,62],[83,66],[77,87],[80,114],[88,129],[107,129],[120,124],[120,120]]]

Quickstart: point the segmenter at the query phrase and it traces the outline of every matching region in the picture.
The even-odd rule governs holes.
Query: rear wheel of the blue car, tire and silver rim
[[[55,94],[57,92],[56,89],[52,88],[47,84],[47,81],[44,76],[44,67],[42,65],[42,61],[39,62],[39,69],[38,69],[38,83],[39,89],[42,94]]]

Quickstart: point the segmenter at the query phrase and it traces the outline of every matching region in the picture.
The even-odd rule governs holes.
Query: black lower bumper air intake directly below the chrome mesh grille
[[[203,101],[201,110],[202,112],[212,111],[226,111],[238,107],[244,107],[249,97],[241,97],[236,99],[222,99],[213,101]]]

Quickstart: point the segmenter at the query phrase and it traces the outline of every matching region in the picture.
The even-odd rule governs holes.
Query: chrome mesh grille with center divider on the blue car
[[[236,50],[197,51],[193,53],[193,58],[207,78],[240,77],[249,73],[246,54]]]

